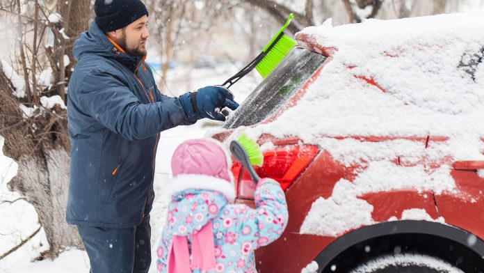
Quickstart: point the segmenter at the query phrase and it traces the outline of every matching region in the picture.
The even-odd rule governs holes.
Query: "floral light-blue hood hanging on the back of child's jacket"
[[[171,235],[192,235],[216,218],[225,205],[227,199],[220,192],[204,189],[178,192],[168,205],[166,229]]]

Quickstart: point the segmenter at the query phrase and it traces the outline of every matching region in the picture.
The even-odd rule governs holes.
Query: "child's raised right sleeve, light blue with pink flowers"
[[[261,179],[254,192],[256,208],[245,213],[241,234],[250,232],[254,249],[277,240],[287,226],[289,214],[284,192],[275,180]]]

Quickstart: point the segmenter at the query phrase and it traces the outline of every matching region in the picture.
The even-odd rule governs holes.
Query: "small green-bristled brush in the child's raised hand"
[[[262,155],[259,145],[245,136],[245,134],[241,134],[237,140],[230,142],[230,153],[241,162],[252,180],[257,184],[261,178],[257,175],[252,165],[262,166],[262,163],[264,163],[264,155]]]

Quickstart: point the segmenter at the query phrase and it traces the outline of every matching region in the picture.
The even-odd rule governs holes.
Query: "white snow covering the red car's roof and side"
[[[330,61],[316,72],[296,106],[271,122],[238,130],[254,138],[264,133],[298,137],[328,150],[345,166],[369,162],[353,181],[341,179],[330,198],[313,203],[301,233],[336,236],[373,224],[373,206],[358,198],[366,193],[409,188],[455,192],[449,164],[429,170],[424,164],[389,162],[395,157],[409,162],[438,162],[446,155],[454,161],[484,160],[484,68],[478,63],[484,49],[483,15],[336,27],[326,22],[297,34],[303,47],[330,52]],[[371,143],[334,138],[350,136],[438,136],[446,141],[426,146],[410,139]],[[408,213],[405,219],[432,219],[422,214]]]

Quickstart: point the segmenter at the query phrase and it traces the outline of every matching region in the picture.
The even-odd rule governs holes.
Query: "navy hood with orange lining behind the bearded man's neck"
[[[76,61],[81,60],[86,54],[95,54],[108,59],[115,59],[130,70],[134,70],[136,65],[143,60],[140,56],[131,56],[121,52],[118,47],[108,39],[106,34],[99,29],[96,22],[92,22],[88,31],[81,33],[74,42],[72,54]]]

